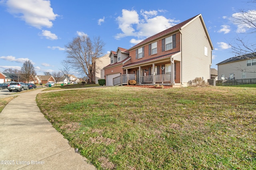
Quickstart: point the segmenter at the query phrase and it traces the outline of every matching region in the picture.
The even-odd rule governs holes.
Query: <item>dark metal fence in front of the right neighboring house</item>
[[[219,86],[230,86],[230,85],[249,85],[249,84],[256,84],[255,79],[233,79],[233,80],[217,80],[216,85]]]

